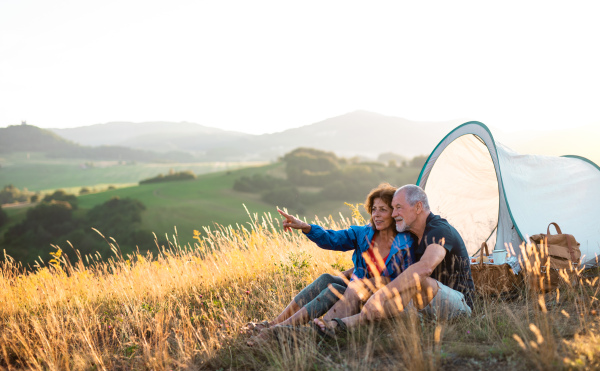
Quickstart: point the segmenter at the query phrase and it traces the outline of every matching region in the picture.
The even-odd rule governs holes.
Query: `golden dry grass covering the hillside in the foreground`
[[[352,223],[322,222],[329,228]],[[415,313],[365,326],[338,340],[309,329],[279,333],[259,348],[241,333],[274,317],[324,272],[351,265],[349,253],[320,250],[279,221],[205,229],[195,246],[171,236],[158,256],[118,254],[24,273],[0,269],[2,369],[434,370],[600,367],[597,272],[540,296],[478,298],[471,318]],[[75,253],[73,253],[75,254]]]

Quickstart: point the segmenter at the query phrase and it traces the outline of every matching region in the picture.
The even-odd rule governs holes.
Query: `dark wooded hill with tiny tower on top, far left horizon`
[[[0,153],[43,152],[53,158],[123,161],[177,161],[195,158],[183,152],[156,153],[122,146],[82,146],[57,134],[32,125],[14,125],[0,128]]]

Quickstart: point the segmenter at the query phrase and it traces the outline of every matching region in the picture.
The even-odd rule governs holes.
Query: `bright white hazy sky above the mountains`
[[[596,4],[0,0],[0,126],[600,125]]]

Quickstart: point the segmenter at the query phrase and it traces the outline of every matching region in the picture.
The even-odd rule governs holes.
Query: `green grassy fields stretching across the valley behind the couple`
[[[5,158],[5,163],[9,164],[3,165],[0,169],[2,174],[0,182],[14,184],[17,187],[23,187],[23,184],[26,184],[30,190],[62,188],[74,194],[78,194],[81,186],[93,187],[96,185],[97,192],[78,196],[79,210],[76,211],[76,214],[84,214],[87,210],[115,196],[139,200],[146,206],[146,210],[142,213],[141,228],[154,232],[161,239],[165,234],[172,239],[171,236],[176,229],[180,245],[186,245],[188,242],[193,243],[193,231],[202,231],[202,227],[214,227],[215,224],[235,226],[236,224],[248,223],[250,221],[248,212],[259,215],[270,212],[275,215],[275,206],[262,201],[259,193],[235,191],[233,190],[233,184],[236,179],[242,176],[252,176],[254,174],[279,178],[286,177],[285,164],[282,162],[262,166],[247,166],[237,170],[231,170],[233,164],[202,164],[197,165],[196,168],[193,167],[194,164],[134,164],[103,168],[94,167],[83,170],[74,161],[54,161],[43,158],[30,158],[30,160],[32,160],[32,163],[28,165],[23,164],[22,161],[11,163]],[[144,185],[135,183],[113,190],[97,186],[98,184],[131,183],[134,179],[137,182],[139,178],[155,176],[159,173],[166,174],[171,168],[176,171],[192,170],[198,172],[202,169],[204,171],[214,171],[218,166],[225,169],[229,167],[229,170],[202,174],[194,180]],[[235,164],[235,166],[242,166],[242,164]],[[413,172],[415,174],[412,174]],[[413,169],[410,170],[408,175],[409,177],[414,175],[416,178],[417,172],[417,169]],[[69,185],[73,187],[69,189]],[[373,184],[374,186],[376,184]],[[300,187],[300,189],[302,192],[316,193],[321,188]],[[363,202],[364,199],[344,201],[356,204]],[[315,216],[321,219],[330,215],[338,219],[340,213],[345,217],[350,216],[351,210],[345,205],[344,201],[320,201],[316,204],[306,205],[302,215],[299,216],[306,217],[308,222],[314,221]],[[278,206],[285,208],[288,205]],[[0,235],[3,235],[10,226],[23,220],[27,209],[27,206],[5,208],[9,215],[9,223],[0,228]],[[297,213],[297,210],[294,209],[289,211],[294,214]],[[94,225],[87,227],[92,228]],[[75,247],[77,248],[77,246]],[[140,249],[143,249],[143,247],[140,246]]]

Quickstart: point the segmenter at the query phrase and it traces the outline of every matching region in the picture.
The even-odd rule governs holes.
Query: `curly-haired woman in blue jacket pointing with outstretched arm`
[[[348,289],[360,300],[343,308],[344,312],[336,316],[352,315],[360,311],[360,303],[365,302],[377,289],[396,278],[411,263],[410,247],[412,236],[398,233],[392,218],[392,198],[396,188],[382,183],[369,192],[364,206],[371,215],[369,224],[351,226],[345,230],[325,230],[315,224],[307,224],[281,210],[277,210],[285,219],[283,228],[301,230],[306,237],[320,248],[336,251],[354,250],[352,261],[354,268],[344,272],[344,278],[323,274],[304,288],[285,310],[273,321],[259,324],[250,323],[255,330],[276,328],[282,325],[301,325],[326,313]],[[350,281],[348,282],[348,277]],[[346,295],[348,295],[347,293]],[[350,303],[350,301],[349,301]],[[252,337],[248,345],[254,345],[269,334],[262,331]]]

